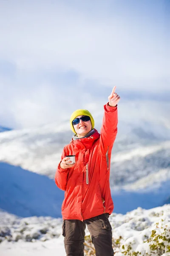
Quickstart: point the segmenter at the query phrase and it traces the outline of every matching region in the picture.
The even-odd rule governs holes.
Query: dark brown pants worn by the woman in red
[[[84,256],[85,227],[87,225],[96,250],[96,256],[113,256],[112,228],[104,213],[85,221],[64,220],[62,235],[67,256]]]

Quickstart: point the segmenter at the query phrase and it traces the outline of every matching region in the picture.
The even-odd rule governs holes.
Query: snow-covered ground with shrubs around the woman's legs
[[[170,205],[149,210],[139,207],[126,215],[113,213],[109,219],[113,229],[113,248],[116,256],[124,256],[127,250],[129,254],[126,255],[136,252],[137,254],[133,255],[170,256],[170,251],[166,253],[170,242],[165,241],[170,238]],[[0,212],[0,255],[65,256],[61,230],[61,218],[17,218]],[[164,245],[159,245],[156,250],[152,249],[151,253],[150,246],[155,244],[156,248],[156,241],[153,239],[161,233],[164,233],[164,238],[162,240],[159,237],[158,242],[163,242]],[[88,235],[86,228],[86,236]]]

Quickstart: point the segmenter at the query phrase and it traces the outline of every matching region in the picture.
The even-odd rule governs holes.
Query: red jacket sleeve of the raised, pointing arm
[[[104,105],[104,116],[100,131],[100,145],[103,154],[111,152],[117,134],[117,106]]]

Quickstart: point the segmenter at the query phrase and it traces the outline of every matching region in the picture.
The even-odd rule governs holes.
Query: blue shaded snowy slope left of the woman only
[[[61,217],[64,191],[47,176],[0,163],[0,208],[21,217]]]

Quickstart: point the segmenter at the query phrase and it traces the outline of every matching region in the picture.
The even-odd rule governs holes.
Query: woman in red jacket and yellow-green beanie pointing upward
[[[117,134],[116,86],[104,106],[101,134],[94,128],[91,113],[79,109],[70,118],[74,136],[64,147],[55,183],[65,191],[62,203],[62,235],[67,256],[84,256],[87,225],[96,256],[113,256],[112,228],[108,220],[113,212],[109,184],[111,150]],[[70,157],[74,155],[76,163]]]

